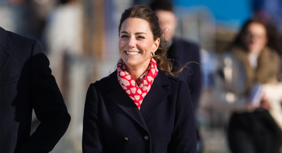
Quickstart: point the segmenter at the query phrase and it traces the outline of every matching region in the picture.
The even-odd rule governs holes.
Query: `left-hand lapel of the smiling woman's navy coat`
[[[148,131],[140,110],[120,86],[117,80],[117,72],[114,71],[109,77],[108,89],[110,92],[108,94],[108,98],[115,102],[117,106],[134,119],[142,128]]]

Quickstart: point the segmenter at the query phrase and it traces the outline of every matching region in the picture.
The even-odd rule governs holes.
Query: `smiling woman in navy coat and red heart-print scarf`
[[[117,70],[88,88],[83,152],[196,152],[189,89],[149,7],[122,13],[118,47]]]

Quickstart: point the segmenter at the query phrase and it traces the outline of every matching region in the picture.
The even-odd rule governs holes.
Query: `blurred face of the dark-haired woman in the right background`
[[[243,36],[243,43],[253,53],[260,53],[267,44],[266,28],[261,23],[250,23]]]

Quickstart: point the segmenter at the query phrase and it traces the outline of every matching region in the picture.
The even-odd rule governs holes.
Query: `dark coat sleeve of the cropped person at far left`
[[[40,124],[19,152],[50,152],[66,132],[70,115],[38,41],[33,43],[29,62],[30,101]]]

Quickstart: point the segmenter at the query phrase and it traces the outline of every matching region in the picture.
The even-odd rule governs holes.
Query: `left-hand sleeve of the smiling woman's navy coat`
[[[83,115],[83,134],[82,134],[82,152],[102,152],[100,141],[100,117],[98,115],[98,97],[93,84],[88,88],[84,115]]]

